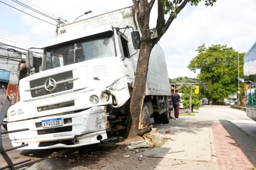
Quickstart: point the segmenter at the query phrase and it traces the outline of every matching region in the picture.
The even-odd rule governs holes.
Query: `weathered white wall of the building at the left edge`
[[[7,56],[7,57],[16,57],[16,58],[22,58],[22,54],[16,53],[16,52],[8,52],[4,48],[0,48],[0,69],[4,69],[7,71],[10,71],[10,82],[11,84],[18,84],[19,79],[19,62],[21,61],[14,61],[19,59],[5,59],[1,56]],[[1,74],[1,72],[0,72]]]

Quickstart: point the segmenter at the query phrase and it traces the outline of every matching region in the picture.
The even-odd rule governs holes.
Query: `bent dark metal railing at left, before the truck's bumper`
[[[5,115],[7,113],[7,110],[11,104],[12,100],[10,100],[7,96],[6,100],[5,100],[5,103],[0,111],[0,126],[2,125],[2,122],[5,118]],[[16,163],[13,163],[10,159],[10,157],[7,155],[6,152],[8,151],[12,151],[12,150],[15,150],[15,149],[18,149],[18,148],[23,148],[23,147],[26,147],[28,146],[29,144],[22,144],[22,145],[19,145],[17,147],[13,147],[13,148],[8,148],[8,149],[4,149],[4,146],[3,146],[3,141],[2,141],[2,135],[3,134],[8,134],[8,133],[15,133],[15,132],[22,132],[22,131],[27,131],[29,130],[28,128],[26,129],[17,129],[17,130],[12,130],[12,131],[5,131],[5,132],[2,132],[1,130],[2,128],[0,127],[0,132],[1,132],[1,137],[0,137],[0,153],[1,155],[3,156],[3,158],[5,159],[6,163],[8,165],[6,166],[3,166],[3,167],[0,167],[0,170],[1,169],[6,169],[6,168],[9,168],[9,169],[14,169],[14,166],[18,165],[18,164],[22,164],[22,163],[25,163],[25,162],[28,162],[28,161],[31,161],[31,159],[27,159],[27,160],[23,160],[23,161],[20,161],[20,162],[16,162]]]

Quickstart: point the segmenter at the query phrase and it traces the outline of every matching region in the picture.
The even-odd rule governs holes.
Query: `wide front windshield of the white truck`
[[[115,57],[113,33],[47,47],[44,57],[46,58],[44,70],[97,58]]]

